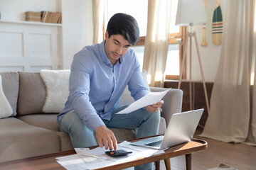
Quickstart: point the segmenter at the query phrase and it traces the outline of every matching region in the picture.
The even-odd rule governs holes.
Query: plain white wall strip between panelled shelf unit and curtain
[[[76,52],[92,45],[92,0],[62,0],[63,69],[70,69]]]

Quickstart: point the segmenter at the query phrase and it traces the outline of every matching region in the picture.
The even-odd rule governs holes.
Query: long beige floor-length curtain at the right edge
[[[226,1],[220,64],[202,136],[256,145],[256,84],[250,89],[254,13],[255,0]]]

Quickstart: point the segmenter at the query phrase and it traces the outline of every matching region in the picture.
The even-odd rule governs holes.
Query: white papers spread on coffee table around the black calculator
[[[124,162],[131,162],[134,159],[142,157],[150,157],[154,154],[161,154],[163,150],[150,149],[146,147],[137,147],[130,145],[130,142],[124,141],[118,144],[118,149],[125,149],[132,151],[124,157],[110,157],[105,154],[105,148],[96,147],[91,150],[78,150],[75,149],[77,154],[68,155],[65,157],[57,157],[56,161],[68,170],[80,169],[98,169],[104,166],[111,166],[114,164],[122,164]]]

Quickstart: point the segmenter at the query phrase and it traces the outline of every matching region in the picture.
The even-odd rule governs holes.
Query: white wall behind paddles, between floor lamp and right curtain
[[[215,75],[218,69],[218,64],[220,61],[220,49],[221,45],[213,45],[212,43],[212,21],[213,21],[213,11],[215,9],[216,0],[206,1],[206,15],[208,23],[206,24],[206,41],[208,45],[206,47],[201,46],[203,40],[203,26],[193,26],[193,31],[196,31],[199,51],[201,55],[201,61],[203,64],[203,74],[206,81],[214,81]],[[223,14],[223,27],[225,26],[225,0],[220,0],[220,8]],[[188,28],[190,29],[190,28]],[[201,80],[201,72],[199,67],[199,62],[197,58],[196,46],[193,41],[192,50],[192,79]],[[189,61],[189,60],[188,60]],[[188,75],[188,74],[187,74]]]

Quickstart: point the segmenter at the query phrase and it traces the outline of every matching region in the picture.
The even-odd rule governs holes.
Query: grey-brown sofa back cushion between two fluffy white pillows
[[[42,113],[46,100],[46,87],[39,73],[18,72],[18,115]]]

